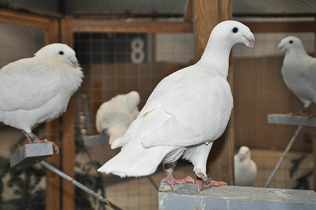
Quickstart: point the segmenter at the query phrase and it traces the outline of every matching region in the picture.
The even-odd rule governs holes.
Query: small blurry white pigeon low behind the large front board
[[[249,147],[239,148],[235,159],[235,185],[252,186],[257,176],[257,165],[251,160]]]

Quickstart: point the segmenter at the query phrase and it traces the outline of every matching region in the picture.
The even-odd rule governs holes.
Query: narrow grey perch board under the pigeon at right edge
[[[290,116],[289,114],[270,114],[267,117],[268,123],[293,125],[293,126],[316,126],[316,118],[308,119],[303,116]]]

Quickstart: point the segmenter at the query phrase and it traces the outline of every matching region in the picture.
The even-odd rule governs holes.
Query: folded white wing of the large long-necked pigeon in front
[[[160,119],[160,126],[152,125],[142,136],[144,147],[190,146],[215,140],[223,133],[233,107],[231,89],[224,77],[203,70],[190,66],[157,85],[137,117],[151,114]]]

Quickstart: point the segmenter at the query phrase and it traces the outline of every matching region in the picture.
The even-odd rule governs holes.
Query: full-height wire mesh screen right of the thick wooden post
[[[259,23],[260,24],[260,23]],[[299,37],[314,56],[314,33],[257,33],[250,49],[233,48],[235,145],[248,146],[258,175],[254,186],[263,187],[296,126],[267,123],[268,114],[294,113],[303,107],[285,86],[281,76],[284,51],[278,43],[287,36]],[[315,112],[311,106],[310,113]],[[315,128],[303,127],[269,187],[313,189],[313,140]]]

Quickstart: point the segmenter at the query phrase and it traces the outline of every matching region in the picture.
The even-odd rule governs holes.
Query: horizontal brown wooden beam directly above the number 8
[[[179,21],[132,21],[127,20],[93,20],[65,18],[73,32],[101,33],[192,33],[189,22]],[[69,30],[68,30],[69,31]]]

